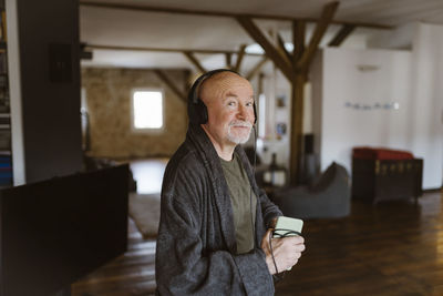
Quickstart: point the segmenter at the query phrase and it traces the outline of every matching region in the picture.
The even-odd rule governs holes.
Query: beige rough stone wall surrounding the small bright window
[[[184,70],[167,70],[165,73],[184,90]],[[110,159],[167,157],[184,141],[186,103],[152,70],[84,68],[82,88],[85,89],[90,116],[89,155]],[[162,132],[132,130],[131,95],[134,89],[163,89],[165,126]]]

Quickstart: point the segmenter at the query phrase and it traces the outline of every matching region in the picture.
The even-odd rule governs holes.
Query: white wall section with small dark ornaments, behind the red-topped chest
[[[350,170],[353,146],[406,149],[411,53],[327,49],[322,54],[321,169],[337,161]],[[383,108],[392,102],[400,109]]]

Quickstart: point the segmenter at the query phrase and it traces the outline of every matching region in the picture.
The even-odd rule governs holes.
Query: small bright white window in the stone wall
[[[134,90],[132,95],[133,130],[162,130],[163,109],[162,90]]]

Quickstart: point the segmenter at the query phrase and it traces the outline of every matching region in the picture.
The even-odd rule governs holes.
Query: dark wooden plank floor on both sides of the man
[[[443,295],[441,200],[353,202],[347,218],[306,221],[307,251],[276,295]],[[72,295],[154,294],[155,239],[128,227],[128,251],[72,285]]]

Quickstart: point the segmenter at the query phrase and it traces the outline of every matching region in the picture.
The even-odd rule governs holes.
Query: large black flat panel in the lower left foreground
[[[63,295],[122,255],[127,177],[121,165],[0,190],[0,296]]]

